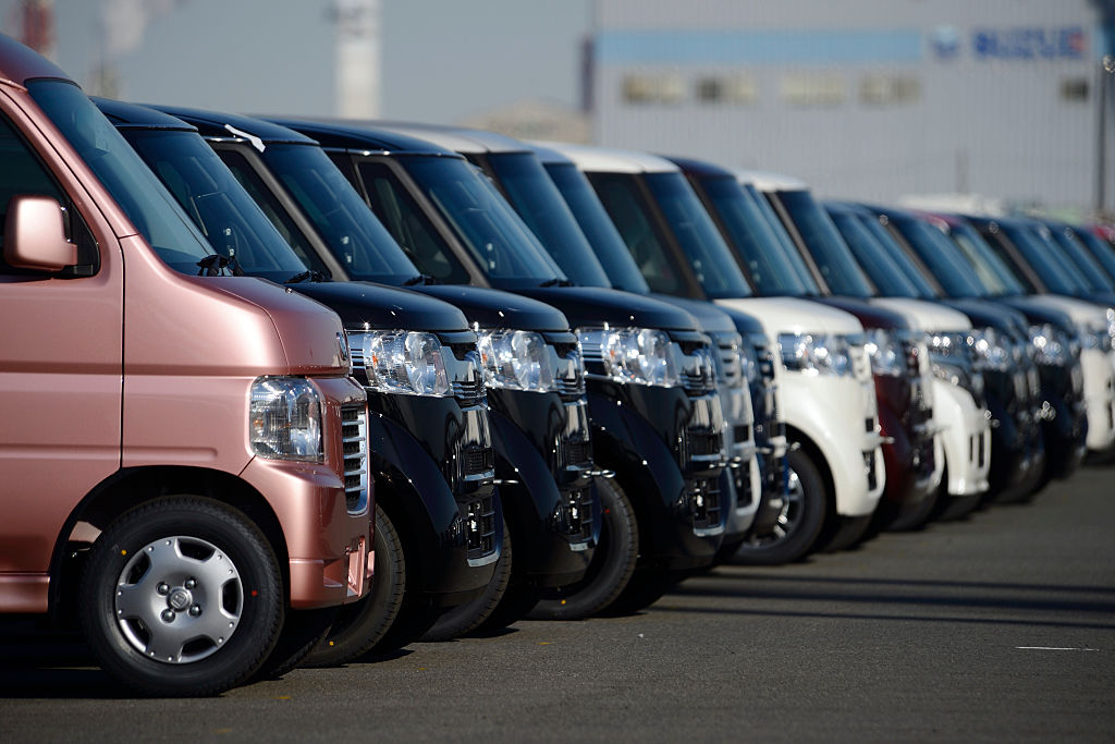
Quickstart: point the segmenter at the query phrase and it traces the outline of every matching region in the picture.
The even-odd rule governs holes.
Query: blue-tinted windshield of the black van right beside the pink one
[[[216,153],[194,132],[125,129],[125,138],[217,253],[274,281],[306,271]]]

